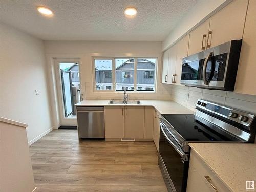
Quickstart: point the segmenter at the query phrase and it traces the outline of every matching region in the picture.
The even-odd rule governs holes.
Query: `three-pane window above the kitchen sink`
[[[147,91],[156,89],[157,58],[93,58],[95,90]]]

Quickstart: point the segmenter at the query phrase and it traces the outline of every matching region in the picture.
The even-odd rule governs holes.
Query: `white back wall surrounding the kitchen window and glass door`
[[[45,51],[49,69],[53,69],[53,58],[79,58],[80,83],[83,98],[85,99],[121,99],[123,93],[93,92],[92,56],[113,57],[158,57],[157,92],[156,93],[129,93],[131,99],[170,99],[171,87],[159,83],[161,78],[162,42],[158,41],[45,41]],[[74,125],[72,120],[67,124],[60,124],[62,114],[58,114],[56,102],[56,77],[49,71],[52,78],[51,95],[52,106],[55,109],[54,124]],[[55,84],[55,85],[54,85]],[[57,86],[59,86],[57,84]],[[58,99],[61,99],[60,97]]]

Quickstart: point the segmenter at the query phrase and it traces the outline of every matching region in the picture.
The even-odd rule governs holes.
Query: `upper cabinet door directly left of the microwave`
[[[183,37],[177,42],[177,57],[176,57],[176,69],[175,69],[175,84],[180,84],[182,60],[187,57],[189,35]]]

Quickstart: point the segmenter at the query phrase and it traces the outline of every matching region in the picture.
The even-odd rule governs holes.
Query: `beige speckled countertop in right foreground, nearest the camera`
[[[189,143],[231,191],[246,191],[246,181],[256,182],[256,144]]]

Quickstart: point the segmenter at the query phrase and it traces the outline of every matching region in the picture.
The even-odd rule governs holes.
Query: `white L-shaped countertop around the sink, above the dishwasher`
[[[140,100],[141,104],[108,104],[110,100],[83,100],[76,106],[153,106],[161,114],[194,114],[194,111],[189,110],[174,101],[164,100]]]

